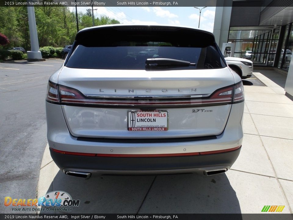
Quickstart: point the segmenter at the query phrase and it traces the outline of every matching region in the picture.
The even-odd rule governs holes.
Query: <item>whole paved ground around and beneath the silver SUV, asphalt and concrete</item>
[[[1,198],[64,191],[81,201],[68,213],[261,213],[265,205],[292,213],[293,101],[261,70],[254,76],[265,86],[244,86],[244,141],[227,173],[84,180],[64,175],[46,146],[45,90],[62,62],[0,63]],[[12,210],[2,202],[0,212]]]

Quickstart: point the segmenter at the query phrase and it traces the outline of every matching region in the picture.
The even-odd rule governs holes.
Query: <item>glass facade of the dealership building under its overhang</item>
[[[268,30],[237,30],[237,27],[233,27],[233,30],[229,31],[228,42],[235,43],[234,57],[250,59],[258,65],[288,70],[293,51],[292,23],[282,27],[285,27],[282,39],[281,27]],[[281,44],[281,47],[278,47],[278,44]]]

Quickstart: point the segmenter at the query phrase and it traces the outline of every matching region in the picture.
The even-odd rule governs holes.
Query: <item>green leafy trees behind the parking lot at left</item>
[[[34,11],[40,47],[63,47],[73,43],[77,32],[76,18],[75,12],[71,12],[69,7],[36,6]],[[91,11],[78,13],[80,29],[92,26],[91,13]],[[119,24],[119,21],[100,16],[95,18],[95,24]],[[24,49],[30,50],[27,7],[0,7],[0,32],[10,41],[9,44],[1,46],[3,49],[24,47]]]

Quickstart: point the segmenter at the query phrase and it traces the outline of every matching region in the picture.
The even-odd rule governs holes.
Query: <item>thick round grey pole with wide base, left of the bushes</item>
[[[36,19],[34,16],[34,7],[27,7],[28,25],[30,28],[31,51],[27,51],[27,60],[41,61],[42,53],[39,51],[38,33]]]

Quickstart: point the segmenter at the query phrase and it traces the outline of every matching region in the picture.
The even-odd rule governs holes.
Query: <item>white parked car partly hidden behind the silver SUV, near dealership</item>
[[[238,57],[225,57],[228,66],[235,71],[241,79],[251,77],[253,72],[253,63],[251,60],[246,60]]]

